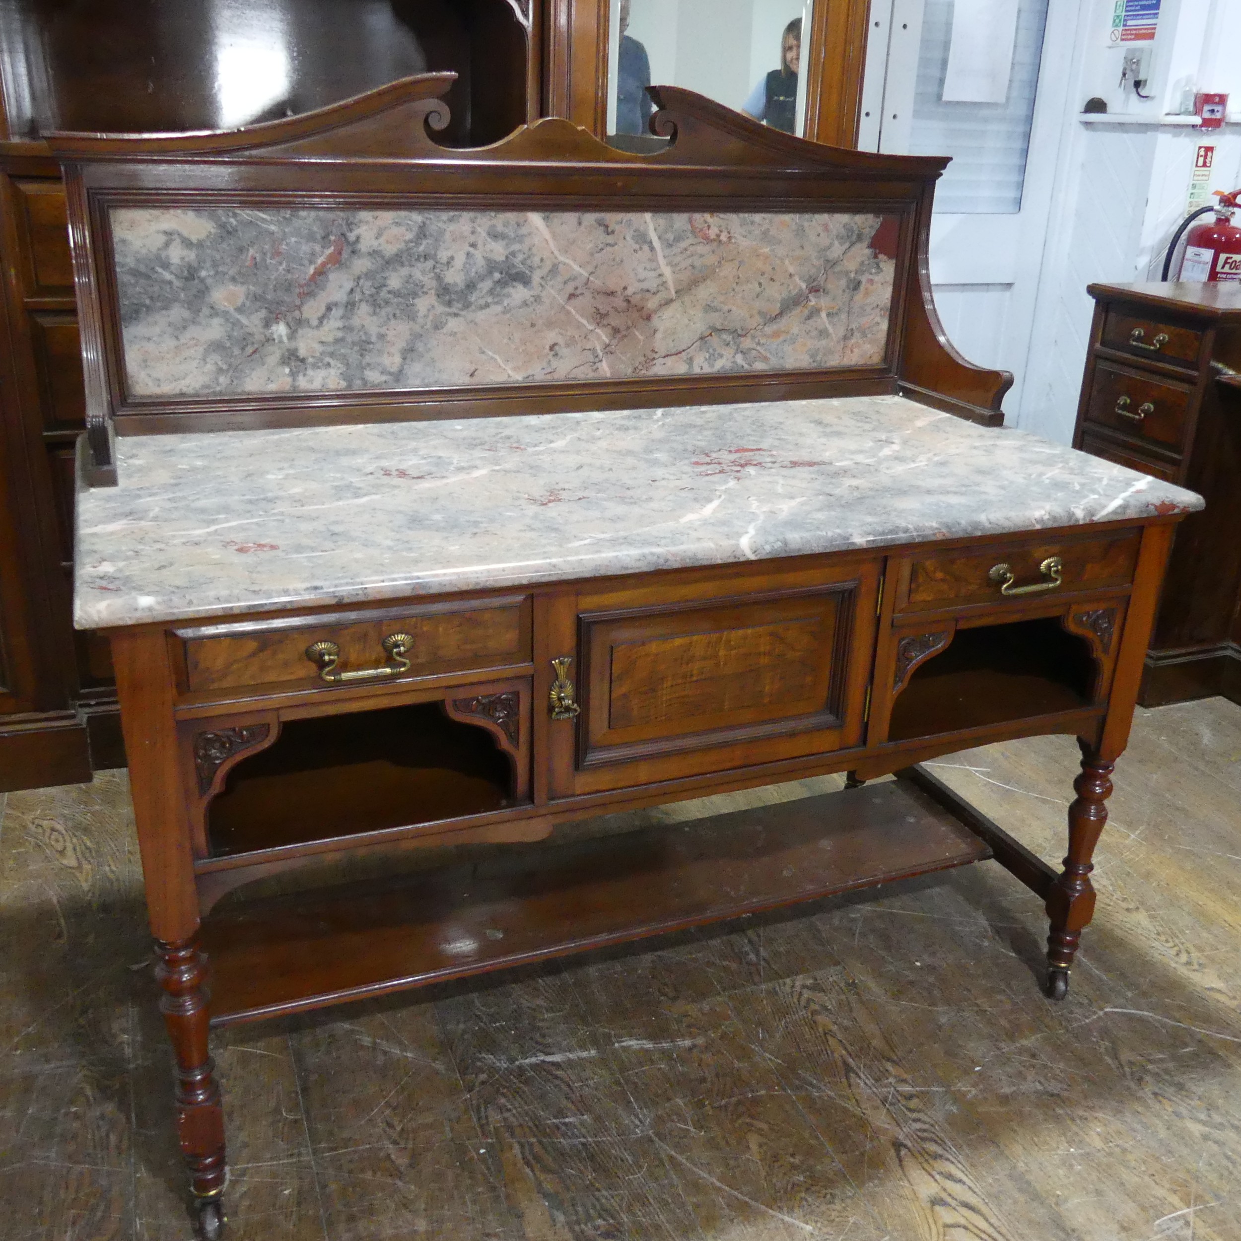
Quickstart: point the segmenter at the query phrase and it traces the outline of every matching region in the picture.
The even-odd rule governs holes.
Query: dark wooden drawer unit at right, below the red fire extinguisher
[[[1090,292],[1075,446],[1206,498],[1176,534],[1138,701],[1241,702],[1241,287]]]

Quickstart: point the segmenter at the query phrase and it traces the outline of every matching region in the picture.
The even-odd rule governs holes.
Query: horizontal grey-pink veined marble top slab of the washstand
[[[1203,508],[891,396],[129,437],[118,474],[78,493],[83,629]]]

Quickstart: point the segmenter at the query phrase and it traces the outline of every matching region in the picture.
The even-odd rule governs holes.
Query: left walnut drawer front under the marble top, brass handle
[[[383,639],[405,633],[408,670],[375,678],[375,684],[403,676],[489,671],[530,661],[530,598],[515,596],[385,608],[331,617],[290,617],[261,624],[238,623],[179,629],[185,676],[192,692],[254,685],[323,685],[318,666],[307,656],[311,643],[339,647],[338,671],[383,668]],[[345,684],[365,685],[366,679]]]

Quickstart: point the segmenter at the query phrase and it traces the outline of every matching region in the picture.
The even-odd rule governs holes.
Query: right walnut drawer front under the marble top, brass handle
[[[910,562],[908,582],[897,597],[896,614],[938,612],[972,604],[1019,604],[1057,598],[1077,591],[1128,586],[1138,562],[1137,530],[1123,530],[1096,539],[1045,539],[1006,542],[995,540],[984,547],[962,549]],[[1061,562],[1060,585],[1041,566],[1051,557]],[[1010,591],[1028,586],[1046,589],[1004,593],[1006,565],[1013,575]],[[993,576],[993,571],[994,576]]]

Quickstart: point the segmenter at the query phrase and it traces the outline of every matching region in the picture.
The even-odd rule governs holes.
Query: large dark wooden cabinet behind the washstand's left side
[[[69,623],[84,392],[65,186],[42,135],[231,128],[428,69],[458,74],[446,144],[495,141],[541,112],[544,12],[531,0],[256,0],[212,12],[201,0],[19,0],[0,20],[0,791],[124,764],[108,643]],[[232,65],[235,42],[266,60]]]

